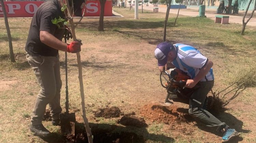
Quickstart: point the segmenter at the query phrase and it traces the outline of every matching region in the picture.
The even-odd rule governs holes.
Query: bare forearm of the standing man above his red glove
[[[40,31],[40,40],[45,45],[57,50],[67,51],[67,44],[54,37],[47,31]]]

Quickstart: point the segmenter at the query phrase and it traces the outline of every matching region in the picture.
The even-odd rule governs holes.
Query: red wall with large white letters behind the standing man
[[[33,17],[43,1],[4,1],[7,17]],[[85,16],[100,16],[100,1],[86,1]],[[112,1],[105,3],[104,16],[112,16]],[[0,17],[3,10],[0,4]]]

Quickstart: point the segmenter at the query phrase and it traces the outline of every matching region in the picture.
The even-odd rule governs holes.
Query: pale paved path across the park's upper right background
[[[143,9],[145,9],[145,10],[153,11],[153,8],[154,7],[151,4],[149,4],[148,6],[143,5]],[[139,9],[141,9],[141,6],[139,6]],[[170,13],[177,14],[178,10],[179,9],[171,9]],[[161,13],[166,13],[166,6],[165,7],[163,7],[163,5],[159,6],[158,7],[158,11],[161,12]],[[187,9],[180,9],[179,14],[195,17],[195,16],[198,16],[198,14],[199,14],[198,11],[199,11],[199,7],[188,7],[187,6]],[[216,12],[215,9],[207,9],[206,8],[205,9],[205,16],[214,20],[215,19],[215,15],[220,15],[220,14],[216,14],[215,12]],[[243,13],[244,13],[244,11],[243,11]],[[248,13],[251,14],[251,11],[249,11]],[[225,15],[227,15],[227,14],[225,14]],[[255,26],[256,27],[256,16],[255,15],[256,15],[256,13],[254,13],[253,18],[251,18],[251,20],[247,23],[246,26],[250,25],[250,26]],[[228,16],[229,16],[229,23],[239,23],[239,24],[242,24],[243,16],[236,16],[236,15],[228,15]],[[249,16],[245,17],[245,21],[247,20],[248,17]]]

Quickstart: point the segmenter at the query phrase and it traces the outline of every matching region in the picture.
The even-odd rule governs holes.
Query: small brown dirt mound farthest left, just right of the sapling
[[[103,108],[99,109],[94,113],[95,117],[104,117],[104,118],[112,118],[112,117],[119,117],[120,116],[120,109],[118,107],[110,107],[110,108]]]

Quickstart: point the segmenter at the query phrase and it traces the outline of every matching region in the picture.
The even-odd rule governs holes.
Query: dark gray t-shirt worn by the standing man
[[[43,44],[40,40],[40,31],[47,31],[60,39],[63,37],[65,29],[59,22],[60,28],[52,23],[55,18],[63,18],[58,0],[46,0],[39,6],[34,14],[26,43],[25,50],[30,55],[56,56],[58,50]]]

